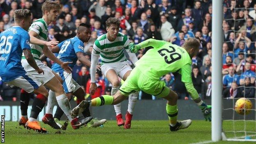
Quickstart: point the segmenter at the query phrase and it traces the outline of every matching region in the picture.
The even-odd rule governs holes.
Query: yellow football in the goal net
[[[251,112],[252,103],[248,98],[239,98],[235,102],[235,111],[238,114],[249,114]]]

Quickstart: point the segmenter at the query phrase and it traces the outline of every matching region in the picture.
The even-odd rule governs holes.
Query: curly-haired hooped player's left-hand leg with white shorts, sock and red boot
[[[104,73],[107,80],[112,85],[111,96],[114,96],[114,94],[116,94],[120,88],[120,82],[119,82],[119,78],[117,75],[117,71],[115,71],[115,69],[117,69],[117,67],[114,65],[115,64],[112,64],[112,65],[103,64],[103,66],[101,67],[102,72]],[[123,116],[121,114],[121,103],[114,105],[114,110],[116,112],[117,125],[123,126],[124,121],[123,121]]]

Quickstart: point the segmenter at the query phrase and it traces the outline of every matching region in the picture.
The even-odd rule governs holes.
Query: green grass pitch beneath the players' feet
[[[242,123],[238,127],[243,128]],[[61,134],[58,130],[41,123],[48,130],[39,134],[18,126],[18,122],[5,122],[5,143],[7,144],[189,144],[209,141],[211,124],[206,121],[192,121],[192,125],[184,130],[171,132],[168,121],[132,121],[129,130],[118,127],[115,121],[107,121],[103,128],[83,127],[73,130],[71,126]],[[225,128],[233,124],[225,123]],[[253,125],[255,130],[255,125]],[[224,128],[224,129],[225,129]],[[253,129],[252,129],[253,130]],[[232,135],[230,135],[232,137]],[[218,142],[219,144],[255,144],[255,142]]]

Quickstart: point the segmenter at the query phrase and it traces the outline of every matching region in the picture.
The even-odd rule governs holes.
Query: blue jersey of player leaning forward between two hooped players
[[[78,60],[76,53],[84,53],[84,43],[77,36],[62,41],[57,46],[60,48],[57,57],[63,62],[72,62],[72,64],[69,64],[71,68],[74,67],[76,61]],[[61,66],[57,63],[53,64],[52,69],[55,72],[63,71]]]

